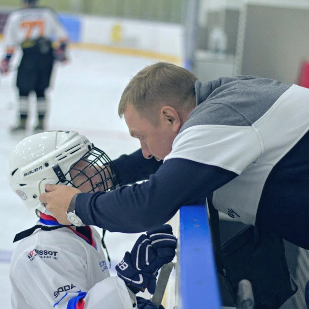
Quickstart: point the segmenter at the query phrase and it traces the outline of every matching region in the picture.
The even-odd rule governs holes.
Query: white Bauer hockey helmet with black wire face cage
[[[82,170],[74,167],[79,160],[87,162]],[[93,176],[89,177],[83,172],[87,167],[95,171]],[[85,182],[90,181],[92,189],[89,192],[95,192],[99,186],[106,192],[120,186],[115,167],[108,156],[85,136],[74,131],[49,131],[24,138],[9,156],[7,178],[28,210],[41,210],[39,195],[45,192],[45,184],[76,187],[70,176],[72,169],[78,171],[74,178],[83,174],[87,177]],[[94,176],[96,180],[99,176],[99,182],[95,184],[91,180]]]

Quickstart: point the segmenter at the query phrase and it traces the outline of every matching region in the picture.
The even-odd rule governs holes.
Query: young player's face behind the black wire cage
[[[95,169],[92,170],[92,168],[90,166],[87,167],[87,165],[89,165],[89,162],[87,162],[87,160],[79,160],[74,165],[73,169],[70,170],[70,176],[74,186],[84,193],[92,190],[92,185],[93,188],[95,188],[95,192],[99,191],[100,189],[104,190],[104,188],[100,188],[101,186],[96,186],[96,184],[100,182],[100,177],[99,175],[95,175]],[[80,171],[83,171],[84,174],[80,173]],[[89,180],[87,176],[91,178],[91,180]],[[79,185],[81,186],[78,187]]]

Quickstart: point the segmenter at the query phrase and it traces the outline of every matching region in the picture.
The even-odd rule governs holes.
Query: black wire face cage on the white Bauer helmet
[[[80,161],[84,161],[85,163],[87,163],[85,164],[83,169],[79,169],[76,167],[77,163]],[[91,176],[89,176],[89,169],[91,170],[92,174]],[[71,177],[69,174],[70,171],[77,171],[78,173],[74,175],[74,177]],[[88,175],[86,171],[88,171]],[[56,170],[55,172],[57,175],[62,174],[61,170],[60,170],[61,173],[59,173],[59,171]],[[69,177],[66,177],[67,175]],[[73,184],[73,181],[77,176],[80,175],[83,175],[85,177],[85,181],[78,184],[78,186],[75,186]],[[96,180],[99,177],[99,182],[94,182],[93,177],[95,177]],[[81,157],[76,163],[74,163],[69,169],[69,171],[66,172],[66,174],[62,174],[60,177],[58,176],[58,178],[59,181],[57,182],[57,184],[59,183],[62,184],[66,183],[66,185],[71,184],[74,188],[79,188],[87,181],[89,181],[89,183],[91,184],[91,189],[88,191],[88,193],[90,192],[94,193],[98,191],[95,190],[98,187],[100,187],[100,191],[109,192],[121,186],[120,180],[116,173],[116,169],[111,159],[109,159],[108,155],[106,155],[104,151],[100,150],[95,146],[93,146],[93,148],[91,148],[85,155],[83,155],[83,157]],[[67,178],[69,178],[70,180],[68,180]]]

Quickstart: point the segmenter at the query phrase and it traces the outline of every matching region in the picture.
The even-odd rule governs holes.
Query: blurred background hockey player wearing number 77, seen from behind
[[[24,131],[28,118],[28,95],[35,91],[37,98],[38,124],[36,132],[44,130],[47,112],[45,90],[49,87],[55,57],[66,60],[67,34],[57,19],[56,13],[47,7],[38,7],[37,0],[23,0],[24,8],[13,11],[5,24],[4,39],[6,55],[1,61],[0,71],[10,70],[10,60],[16,49],[21,47],[16,85],[19,89],[19,121],[12,132]],[[54,50],[52,40],[60,46]]]

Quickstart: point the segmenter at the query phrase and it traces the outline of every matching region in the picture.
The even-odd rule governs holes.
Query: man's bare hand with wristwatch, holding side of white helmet
[[[80,190],[74,187],[64,186],[60,184],[45,184],[47,193],[40,194],[40,202],[47,204],[46,209],[53,213],[53,217],[64,225],[71,223],[66,219],[66,212],[69,208],[70,201]]]

